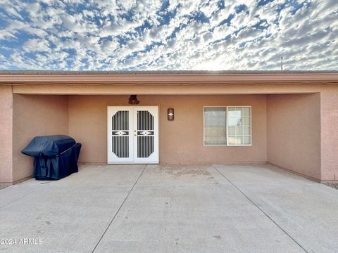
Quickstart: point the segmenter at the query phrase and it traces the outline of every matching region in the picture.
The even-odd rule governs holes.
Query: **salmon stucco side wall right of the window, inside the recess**
[[[320,180],[320,93],[267,96],[268,162]]]

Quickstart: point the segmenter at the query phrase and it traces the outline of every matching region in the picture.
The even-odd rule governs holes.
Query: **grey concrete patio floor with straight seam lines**
[[[0,252],[337,252],[337,214],[268,164],[82,165],[0,190]]]

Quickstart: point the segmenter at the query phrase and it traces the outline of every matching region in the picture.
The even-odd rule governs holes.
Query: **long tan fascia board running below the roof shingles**
[[[0,74],[2,84],[228,84],[338,82],[338,73],[280,74]]]

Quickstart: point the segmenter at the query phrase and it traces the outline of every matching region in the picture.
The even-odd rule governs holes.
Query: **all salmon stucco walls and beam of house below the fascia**
[[[36,135],[69,134],[83,144],[80,162],[106,163],[107,105],[127,105],[132,93],[138,94],[139,105],[160,108],[162,163],[270,162],[311,179],[338,180],[336,85],[47,82],[13,86],[13,95],[11,89],[1,86],[0,93],[4,120],[0,139],[5,143],[0,147],[4,158],[0,161],[1,181],[5,176],[6,180],[18,181],[31,175],[32,160],[21,155],[20,150]],[[47,93],[54,95],[46,96]],[[203,107],[207,105],[251,105],[252,146],[204,147]],[[175,109],[173,122],[167,120],[168,108]]]

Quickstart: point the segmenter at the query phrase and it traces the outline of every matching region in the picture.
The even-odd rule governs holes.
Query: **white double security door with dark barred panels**
[[[108,164],[158,163],[158,107],[108,106]]]

